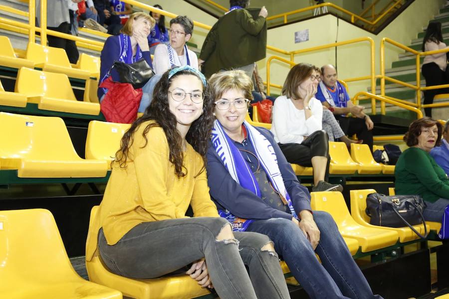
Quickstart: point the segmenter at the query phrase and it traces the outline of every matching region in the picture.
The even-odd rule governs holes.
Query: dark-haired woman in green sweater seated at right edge
[[[395,167],[396,194],[422,196],[427,204],[424,218],[436,222],[442,221],[449,204],[448,176],[429,153],[440,144],[442,132],[443,126],[429,117],[411,123],[404,136],[410,148],[402,152]]]

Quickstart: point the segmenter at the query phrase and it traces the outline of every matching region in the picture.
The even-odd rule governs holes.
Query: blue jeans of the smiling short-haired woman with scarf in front
[[[274,241],[276,252],[311,299],[382,298],[373,295],[332,216],[313,211],[313,218],[321,232],[315,251],[299,226],[291,220],[254,220],[247,231],[265,234]]]

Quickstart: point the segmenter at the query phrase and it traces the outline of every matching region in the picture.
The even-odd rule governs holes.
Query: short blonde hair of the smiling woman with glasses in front
[[[252,97],[252,80],[244,71],[232,70],[219,72],[209,78],[209,91],[213,101],[219,100],[223,94],[230,90],[241,90],[245,99],[251,101]]]

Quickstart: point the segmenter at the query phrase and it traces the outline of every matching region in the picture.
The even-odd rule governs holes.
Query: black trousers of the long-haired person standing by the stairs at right
[[[446,74],[435,62],[423,64],[422,73],[426,78],[426,86],[448,84]],[[449,88],[431,89],[424,91],[423,104],[433,104],[434,97],[439,94],[449,93]],[[432,117],[432,108],[424,108],[424,113]]]

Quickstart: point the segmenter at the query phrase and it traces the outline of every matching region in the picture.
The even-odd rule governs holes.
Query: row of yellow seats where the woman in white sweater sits
[[[257,120],[257,108],[253,107],[253,119]],[[252,121],[249,114],[246,121],[256,127],[271,129],[271,124]],[[376,147],[375,149],[383,149]],[[394,174],[395,165],[385,165],[374,160],[373,154],[368,145],[351,144],[351,153],[344,143],[329,142],[329,155],[331,157],[329,165],[330,174]],[[312,167],[303,167],[292,164],[296,175],[312,175]]]

